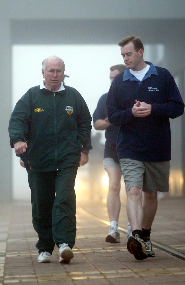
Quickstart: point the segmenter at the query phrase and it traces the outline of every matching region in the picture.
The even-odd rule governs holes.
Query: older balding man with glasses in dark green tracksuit
[[[76,237],[74,183],[91,115],[80,93],[62,83],[65,65],[53,56],[42,62],[44,81],[17,102],[9,122],[11,147],[28,153],[33,226],[38,262],[50,262],[55,244],[59,262],[69,263]],[[30,125],[29,145],[25,139]]]

